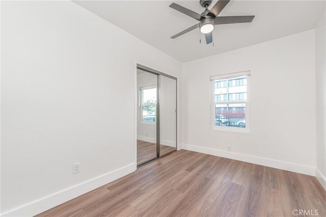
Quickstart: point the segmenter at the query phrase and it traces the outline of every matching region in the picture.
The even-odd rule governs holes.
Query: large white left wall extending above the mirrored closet
[[[135,169],[135,61],[181,64],[70,1],[1,4],[2,214],[34,215]]]

